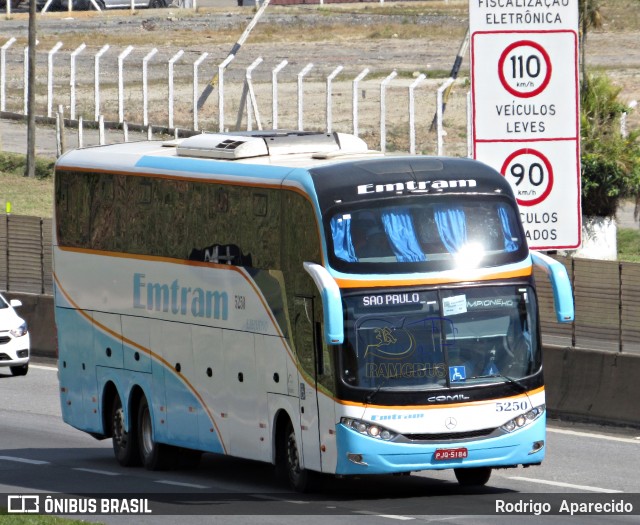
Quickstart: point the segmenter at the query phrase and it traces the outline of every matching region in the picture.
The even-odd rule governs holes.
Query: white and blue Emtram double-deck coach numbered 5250
[[[469,159],[340,134],[202,134],[55,168],[64,420],[122,465],[202,452],[316,473],[540,464],[532,253],[509,184]]]

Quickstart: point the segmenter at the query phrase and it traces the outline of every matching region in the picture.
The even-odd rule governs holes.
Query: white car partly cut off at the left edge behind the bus
[[[23,376],[29,371],[30,339],[26,321],[14,310],[18,306],[21,301],[7,301],[0,294],[0,367],[8,366],[14,376]]]

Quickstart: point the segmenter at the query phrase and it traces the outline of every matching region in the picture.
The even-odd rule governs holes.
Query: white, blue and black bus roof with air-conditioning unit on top
[[[247,169],[251,165],[254,169]],[[260,166],[260,168],[258,168]],[[324,212],[353,202],[401,193],[512,195],[493,168],[463,158],[383,156],[353,135],[304,131],[203,133],[173,141],[142,141],[73,150],[58,169],[157,173],[176,178],[279,184],[302,168]],[[310,174],[310,176],[309,176]]]

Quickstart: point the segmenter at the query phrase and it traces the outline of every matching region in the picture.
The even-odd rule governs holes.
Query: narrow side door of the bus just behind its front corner
[[[320,419],[318,412],[318,370],[316,349],[316,319],[314,298],[296,295],[294,300],[293,333],[298,356],[298,394],[300,406],[300,436],[304,467],[321,470]]]

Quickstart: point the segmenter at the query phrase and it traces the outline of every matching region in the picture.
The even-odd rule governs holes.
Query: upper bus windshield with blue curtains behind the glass
[[[499,196],[416,196],[368,201],[328,217],[330,258],[350,273],[443,271],[526,257],[514,205]],[[377,267],[377,268],[376,268]]]

